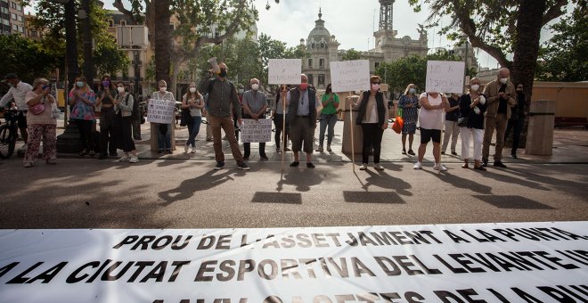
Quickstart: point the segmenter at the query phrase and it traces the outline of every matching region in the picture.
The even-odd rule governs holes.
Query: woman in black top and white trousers
[[[486,96],[479,94],[480,79],[471,78],[470,94],[460,97],[461,168],[470,168],[470,142],[474,141],[474,169],[486,170],[482,166],[482,138],[484,137],[484,113]],[[463,121],[466,121],[465,123]]]

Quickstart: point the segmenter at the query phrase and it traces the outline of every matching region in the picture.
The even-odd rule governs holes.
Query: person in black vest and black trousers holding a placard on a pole
[[[370,90],[363,92],[356,103],[354,110],[357,110],[355,123],[362,127],[363,150],[362,166],[360,170],[367,169],[370,159],[370,152],[373,148],[373,168],[384,170],[380,164],[380,151],[382,135],[388,128],[388,104],[384,102],[384,94],[380,92],[381,78],[370,77]]]

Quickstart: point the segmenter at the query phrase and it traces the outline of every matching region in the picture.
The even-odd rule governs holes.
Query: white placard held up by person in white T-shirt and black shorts
[[[427,61],[427,92],[463,93],[463,61]]]

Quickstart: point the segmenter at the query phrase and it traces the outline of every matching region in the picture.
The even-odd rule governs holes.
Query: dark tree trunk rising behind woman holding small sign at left
[[[169,84],[169,65],[172,48],[171,28],[169,25],[170,0],[157,0],[153,3],[155,30],[155,79],[166,80]]]

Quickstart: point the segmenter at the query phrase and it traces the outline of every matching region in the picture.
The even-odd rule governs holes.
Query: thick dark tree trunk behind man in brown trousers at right
[[[547,8],[546,0],[521,0],[517,19],[517,43],[514,45],[514,58],[511,79],[515,86],[523,85],[527,106],[524,127],[521,131],[519,147],[527,143],[528,110],[533,92],[535,67],[539,55],[539,38],[543,28],[543,14]]]

